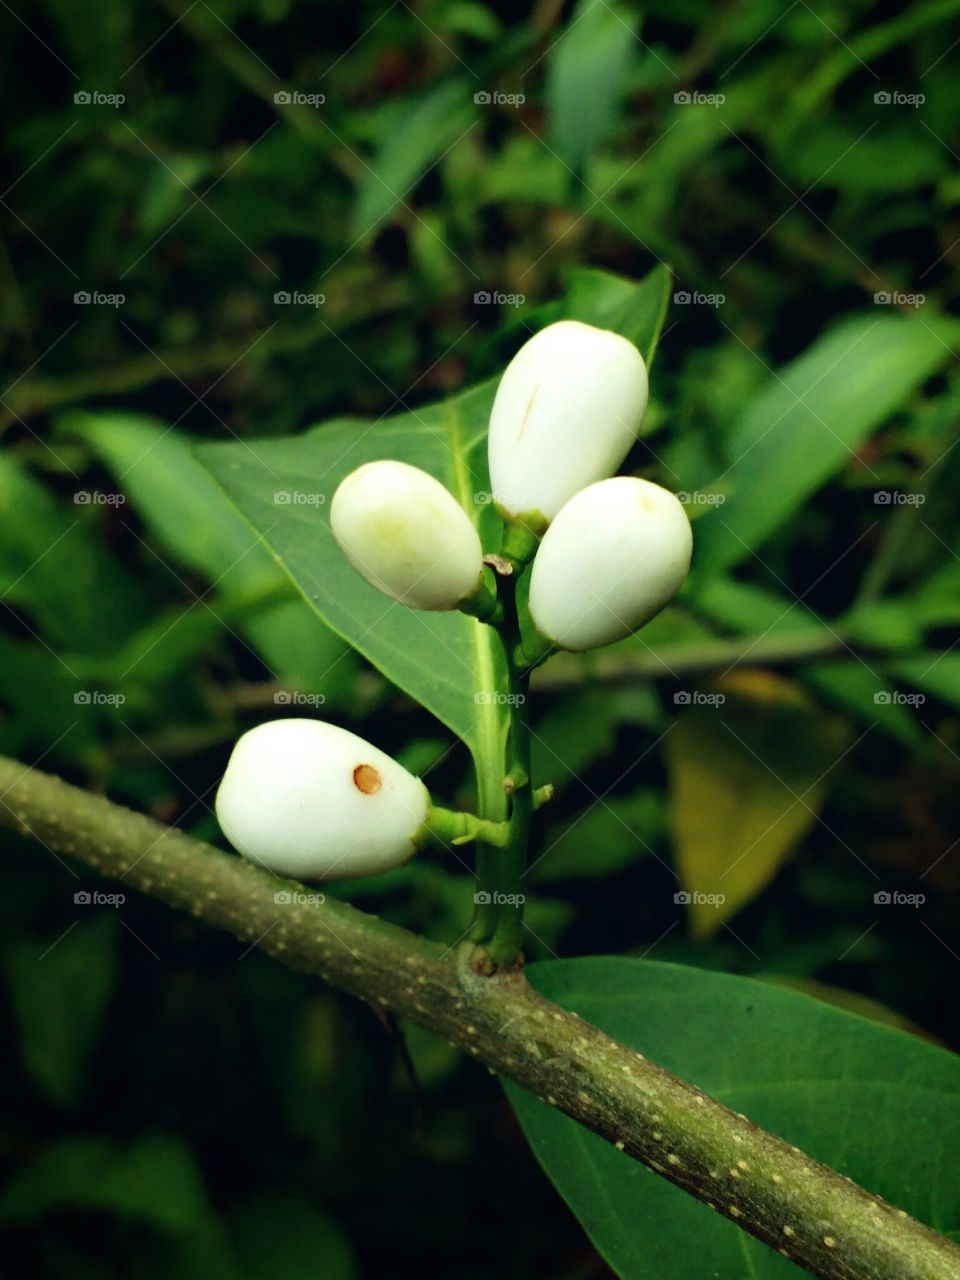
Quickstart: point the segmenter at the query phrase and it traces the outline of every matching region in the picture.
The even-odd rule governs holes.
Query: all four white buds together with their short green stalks
[[[521,660],[527,644],[536,660],[554,646],[623,639],[686,577],[684,506],[649,480],[614,475],[646,398],[636,347],[573,320],[525,343],[500,379],[488,456],[506,529],[490,559],[513,577],[532,558]],[[390,599],[500,625],[477,530],[429,472],[397,460],[365,463],[337,489],[330,526],[352,567]],[[244,858],[301,879],[388,870],[431,832],[460,841],[484,826],[435,809],[419,778],[355,733],[308,719],[271,721],[239,739],[216,814]],[[498,836],[486,829],[484,838]]]

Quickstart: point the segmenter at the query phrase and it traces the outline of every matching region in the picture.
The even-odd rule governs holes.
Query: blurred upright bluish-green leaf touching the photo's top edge
[[[580,0],[547,60],[550,146],[576,173],[614,131],[637,44],[636,17]]]

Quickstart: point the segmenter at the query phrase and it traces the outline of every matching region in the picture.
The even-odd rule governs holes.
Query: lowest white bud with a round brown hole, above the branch
[[[244,858],[296,879],[371,876],[415,852],[426,787],[335,724],[269,721],[239,739],[216,792],[224,835]]]

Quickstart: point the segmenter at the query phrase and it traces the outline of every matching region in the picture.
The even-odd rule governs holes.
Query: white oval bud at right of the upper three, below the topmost
[[[649,480],[614,476],[576,494],[544,534],[530,616],[561,649],[596,649],[636,631],[690,568],[682,503]]]

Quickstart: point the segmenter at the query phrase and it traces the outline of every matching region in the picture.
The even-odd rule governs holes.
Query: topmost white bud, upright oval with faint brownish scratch
[[[646,411],[646,366],[609,329],[559,320],[526,342],[497,388],[489,461],[508,516],[553,520],[580,489],[613,475]]]

